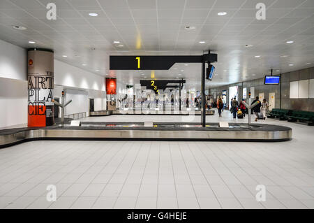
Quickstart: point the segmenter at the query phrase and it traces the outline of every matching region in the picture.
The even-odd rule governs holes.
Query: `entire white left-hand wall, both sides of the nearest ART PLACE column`
[[[54,84],[54,96],[60,98],[63,89],[77,88],[75,94],[68,94],[73,104],[67,113],[86,111],[88,115],[89,97],[95,98],[95,110],[105,110],[105,78],[100,75],[54,59]],[[98,92],[96,97],[89,96],[90,89]],[[0,104],[0,127],[27,124],[27,50],[1,40]]]

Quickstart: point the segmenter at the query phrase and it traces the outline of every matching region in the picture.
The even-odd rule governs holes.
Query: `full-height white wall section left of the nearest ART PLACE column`
[[[27,50],[0,40],[0,127],[27,123]]]

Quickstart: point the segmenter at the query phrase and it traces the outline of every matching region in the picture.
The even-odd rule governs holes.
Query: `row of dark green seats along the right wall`
[[[303,110],[288,110],[274,108],[267,117],[277,117],[279,120],[287,120],[288,122],[308,122],[309,125],[314,124],[314,112]]]

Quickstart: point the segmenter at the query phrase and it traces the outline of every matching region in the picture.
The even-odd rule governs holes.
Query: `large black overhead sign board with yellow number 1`
[[[169,70],[175,63],[217,62],[216,54],[200,56],[110,56],[110,70]]]

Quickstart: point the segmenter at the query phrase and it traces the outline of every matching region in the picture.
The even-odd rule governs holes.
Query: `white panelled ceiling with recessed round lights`
[[[45,17],[49,2],[57,5],[57,20]],[[255,19],[259,2],[0,0],[0,39],[23,48],[52,48],[56,59],[98,75],[115,75],[126,84],[151,78],[151,72],[109,72],[109,55],[202,55],[211,50],[218,54],[218,75],[208,86],[260,78],[271,68],[284,73],[313,66],[314,0],[262,0],[267,6],[267,20],[262,21]],[[222,11],[227,15],[217,15]],[[13,25],[27,30],[15,30]],[[185,26],[196,29],[188,31]],[[294,43],[285,43],[290,40]],[[113,41],[124,47],[117,48]],[[155,77],[186,78],[188,85],[199,86],[200,71],[200,64],[176,64],[170,71],[155,71]]]

